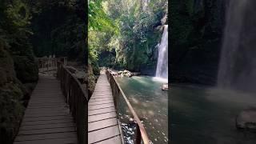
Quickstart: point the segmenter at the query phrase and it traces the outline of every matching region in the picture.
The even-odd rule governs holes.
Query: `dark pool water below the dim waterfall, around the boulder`
[[[255,144],[256,134],[239,131],[235,117],[256,106],[256,95],[200,86],[172,86],[172,143]]]

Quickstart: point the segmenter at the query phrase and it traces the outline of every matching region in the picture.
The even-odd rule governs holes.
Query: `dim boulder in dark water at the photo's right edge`
[[[250,130],[256,132],[256,107],[242,110],[235,119],[238,130]]]

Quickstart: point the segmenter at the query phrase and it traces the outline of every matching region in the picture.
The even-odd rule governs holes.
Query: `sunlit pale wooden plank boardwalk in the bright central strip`
[[[88,103],[88,143],[122,143],[110,83],[104,72]]]

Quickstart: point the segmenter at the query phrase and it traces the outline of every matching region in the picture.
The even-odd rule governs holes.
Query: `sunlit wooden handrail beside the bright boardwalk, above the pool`
[[[113,75],[110,74],[109,70],[106,70],[106,76],[107,76],[107,78],[108,78],[108,80],[109,80],[109,82],[110,82],[110,86],[111,86],[112,91],[113,91],[113,93],[114,93],[114,98],[115,98],[116,95],[117,95],[116,93],[118,93],[117,90],[114,90],[114,88],[117,86],[118,90],[119,90],[119,91],[121,92],[121,94],[122,94],[122,97],[123,97],[123,98],[125,99],[125,101],[126,101],[126,105],[127,105],[128,108],[130,109],[130,112],[133,114],[134,120],[137,122],[137,126],[138,126],[139,130],[138,130],[138,128],[136,129],[136,130],[138,130],[138,131],[137,131],[137,135],[136,135],[136,143],[139,143],[139,144],[140,144],[140,143],[141,143],[141,138],[142,138],[142,142],[143,142],[144,144],[150,144],[150,139],[148,138],[148,136],[147,136],[147,134],[146,134],[146,129],[145,129],[145,127],[143,126],[141,120],[138,118],[138,115],[136,114],[134,108],[130,105],[130,102],[129,102],[128,98],[126,98],[126,94],[124,94],[124,92],[122,91],[122,89],[121,89],[121,87],[119,86],[118,82],[116,82],[116,80],[115,80],[115,78],[113,77]],[[116,105],[116,102],[115,102],[115,106],[117,106],[117,105]]]

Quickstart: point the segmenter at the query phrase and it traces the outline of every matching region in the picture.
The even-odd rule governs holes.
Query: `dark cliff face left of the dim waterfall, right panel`
[[[170,2],[170,82],[216,83],[225,4],[222,0]]]

